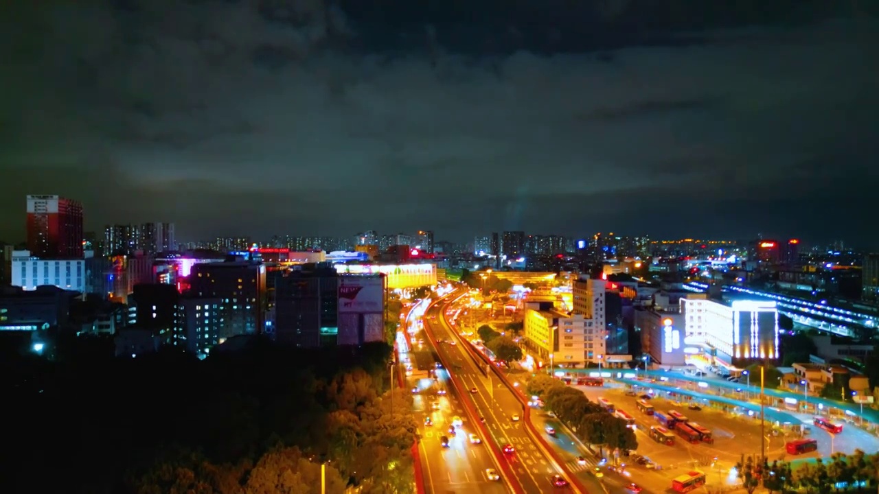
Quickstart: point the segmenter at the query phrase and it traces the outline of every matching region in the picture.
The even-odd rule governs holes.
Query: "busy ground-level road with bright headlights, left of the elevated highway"
[[[470,444],[469,434],[476,432],[472,419],[456,396],[454,387],[448,385],[448,375],[435,370],[434,355],[418,351],[418,345],[400,352],[403,363],[409,364],[407,385],[413,392],[412,408],[418,420],[418,453],[425,480],[426,494],[508,494],[512,492],[503,482],[488,478],[487,469],[499,470],[489,449],[482,444]],[[398,345],[398,349],[401,345]],[[411,348],[414,346],[414,348]],[[428,372],[435,373],[437,380]],[[439,394],[443,391],[443,394]],[[439,410],[433,410],[433,403]],[[432,425],[425,425],[425,418]],[[454,418],[461,418],[461,426],[455,428],[454,436],[448,432]],[[449,447],[442,447],[440,437],[448,438]],[[481,438],[480,438],[481,439]]]

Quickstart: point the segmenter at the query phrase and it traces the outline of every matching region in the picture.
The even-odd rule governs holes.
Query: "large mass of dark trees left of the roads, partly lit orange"
[[[411,490],[411,397],[389,345],[301,351],[253,339],[206,360],[5,360],[3,492],[268,494]]]

